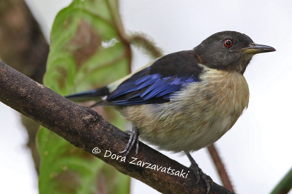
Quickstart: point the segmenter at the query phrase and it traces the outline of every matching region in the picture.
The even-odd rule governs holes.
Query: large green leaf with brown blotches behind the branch
[[[44,85],[68,95],[125,76],[131,50],[124,34],[117,1],[74,0],[55,18]],[[101,112],[124,128],[117,111]],[[40,193],[129,193],[130,177],[46,128],[39,130],[37,142]]]

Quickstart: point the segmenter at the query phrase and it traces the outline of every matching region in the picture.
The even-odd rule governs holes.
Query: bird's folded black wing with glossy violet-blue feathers
[[[169,102],[173,92],[199,81],[202,68],[192,50],[168,54],[132,74],[107,96],[109,105]]]

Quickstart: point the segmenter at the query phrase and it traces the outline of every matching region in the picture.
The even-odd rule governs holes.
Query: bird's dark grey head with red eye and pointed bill
[[[194,48],[204,65],[228,71],[244,73],[253,55],[276,51],[273,47],[258,45],[247,35],[235,31],[223,31],[206,38]]]

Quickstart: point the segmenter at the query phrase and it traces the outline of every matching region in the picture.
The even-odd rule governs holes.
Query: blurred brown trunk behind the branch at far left
[[[24,0],[0,1],[0,42],[0,58],[4,63],[42,83],[49,45]],[[28,134],[27,146],[39,173],[40,158],[35,142],[39,124],[22,114],[20,117]]]

